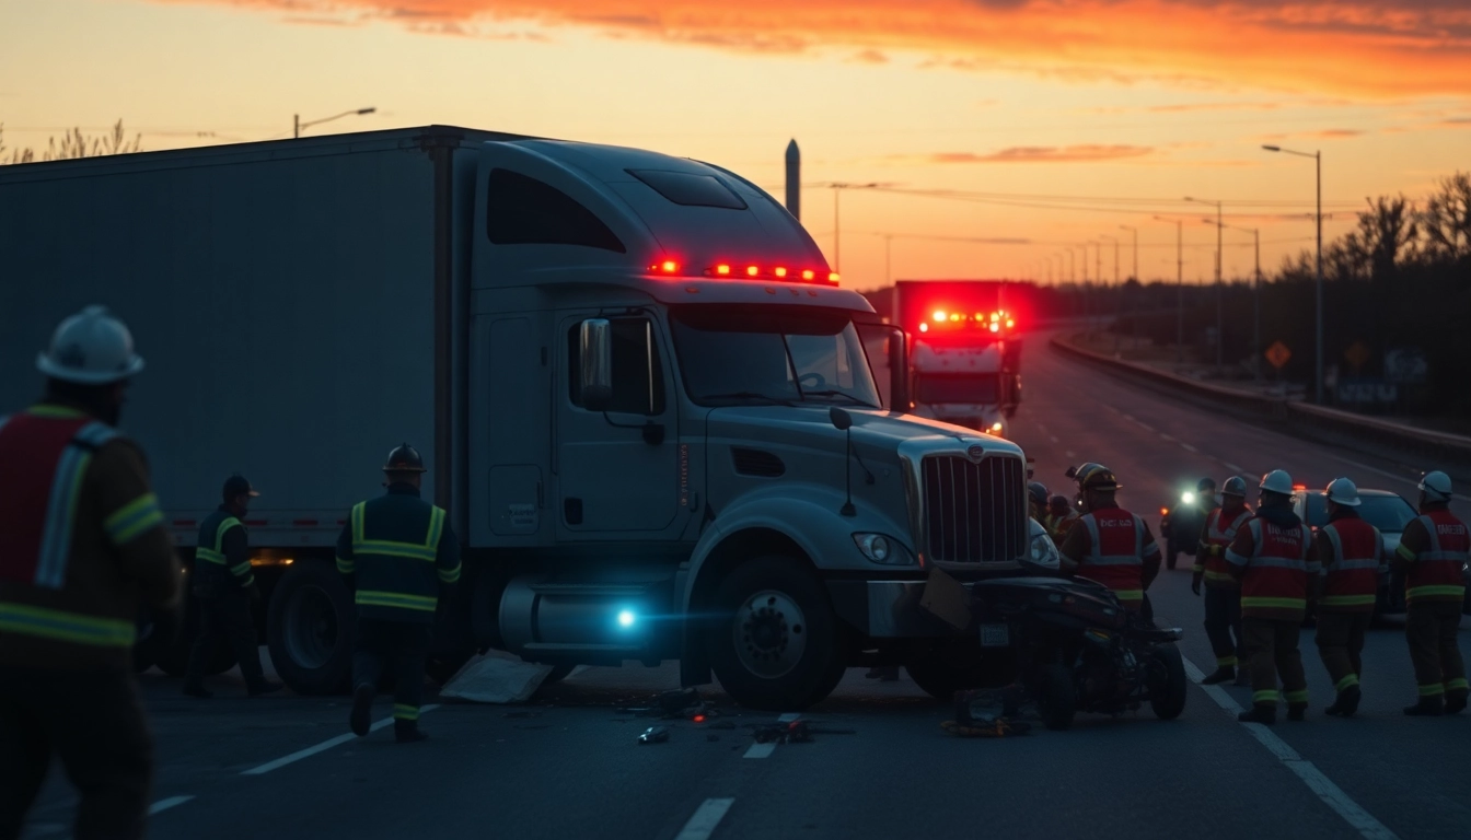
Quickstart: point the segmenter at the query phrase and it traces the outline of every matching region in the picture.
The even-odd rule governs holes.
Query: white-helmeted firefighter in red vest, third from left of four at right
[[[1318,655],[1337,691],[1328,715],[1353,716],[1364,678],[1364,637],[1374,618],[1380,580],[1389,572],[1384,535],[1359,518],[1359,488],[1347,478],[1328,483],[1328,524],[1318,528],[1314,555],[1318,580]]]

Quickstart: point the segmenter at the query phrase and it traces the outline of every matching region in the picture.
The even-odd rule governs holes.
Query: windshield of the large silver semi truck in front
[[[671,324],[684,387],[697,405],[878,407],[874,374],[847,312],[684,306]]]

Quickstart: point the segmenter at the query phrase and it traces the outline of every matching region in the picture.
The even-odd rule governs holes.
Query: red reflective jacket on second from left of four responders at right
[[[1308,585],[1321,566],[1311,558],[1308,527],[1277,525],[1258,510],[1236,533],[1225,559],[1242,581],[1242,616],[1302,621],[1308,611]]]

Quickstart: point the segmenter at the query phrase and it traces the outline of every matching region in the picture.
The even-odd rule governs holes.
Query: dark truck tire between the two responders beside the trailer
[[[271,663],[297,694],[347,691],[356,630],[353,594],[328,560],[297,560],[271,596]]]

